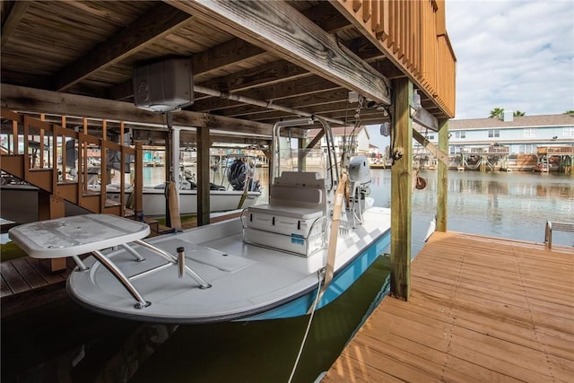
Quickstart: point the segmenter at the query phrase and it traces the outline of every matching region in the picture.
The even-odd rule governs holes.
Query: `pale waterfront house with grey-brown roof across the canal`
[[[479,169],[484,163],[488,165],[485,169],[533,170],[548,165],[548,170],[566,171],[572,165],[571,114],[516,117],[507,111],[503,118],[453,119],[448,132],[452,168],[464,165],[466,169]],[[435,132],[422,130],[422,134],[431,143],[438,143]],[[423,165],[436,162],[421,144],[415,144],[414,152],[420,153]]]

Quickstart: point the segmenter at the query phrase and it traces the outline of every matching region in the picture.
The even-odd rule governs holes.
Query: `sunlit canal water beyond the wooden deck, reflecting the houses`
[[[413,253],[424,242],[436,214],[437,172],[421,170],[424,190],[413,192]],[[390,207],[390,170],[374,170],[370,196]],[[544,225],[574,221],[574,178],[536,172],[448,172],[448,230],[543,242]],[[556,232],[552,241],[574,245],[572,234]]]

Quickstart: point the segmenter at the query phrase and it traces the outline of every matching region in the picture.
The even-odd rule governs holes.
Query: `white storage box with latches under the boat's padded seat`
[[[326,217],[315,209],[256,205],[241,217],[243,239],[308,257],[324,247]]]

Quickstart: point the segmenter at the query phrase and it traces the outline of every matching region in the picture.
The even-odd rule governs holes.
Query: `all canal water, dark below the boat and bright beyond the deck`
[[[421,175],[427,187],[413,193],[413,254],[422,248],[436,212],[436,172]],[[373,170],[373,176],[371,196],[377,205],[389,206],[390,170]],[[574,178],[457,171],[448,176],[448,230],[542,242],[546,220],[574,221]],[[574,245],[571,234],[557,232],[554,241]],[[387,257],[380,257],[340,299],[317,312],[293,381],[312,382],[328,369],[378,299],[387,274]],[[92,314],[63,300],[2,320],[1,378],[3,383],[287,381],[307,320],[163,326]]]

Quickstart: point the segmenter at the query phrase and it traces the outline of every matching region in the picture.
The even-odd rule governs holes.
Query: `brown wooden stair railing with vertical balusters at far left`
[[[88,121],[83,118],[83,132],[43,121],[44,116],[32,118],[0,109],[2,117],[3,151],[0,166],[6,173],[32,186],[58,196],[74,205],[94,213],[126,215],[124,174],[126,166],[134,164],[134,210],[142,210],[143,151],[142,144],[135,148],[110,142],[106,137],[106,121],[102,120],[102,137],[87,134]],[[123,123],[120,123],[123,130]],[[123,136],[123,132],[122,135]],[[88,156],[90,151],[90,156]],[[73,155],[74,158],[69,158]],[[89,158],[90,157],[90,158]],[[108,160],[119,161],[120,197],[114,203],[106,197],[109,184]],[[99,163],[100,171],[90,161]],[[90,180],[97,182],[91,182]],[[99,182],[98,182],[99,181]]]

